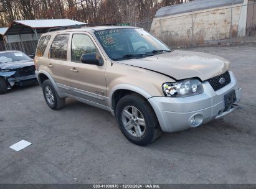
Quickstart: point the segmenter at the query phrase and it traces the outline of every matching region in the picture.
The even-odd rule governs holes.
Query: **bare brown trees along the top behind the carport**
[[[0,0],[0,27],[15,20],[73,19],[91,25],[150,21],[163,6],[192,0]]]

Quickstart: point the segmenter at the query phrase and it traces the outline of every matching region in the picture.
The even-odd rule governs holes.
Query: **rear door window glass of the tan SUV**
[[[67,60],[69,34],[57,35],[50,46],[50,58]]]

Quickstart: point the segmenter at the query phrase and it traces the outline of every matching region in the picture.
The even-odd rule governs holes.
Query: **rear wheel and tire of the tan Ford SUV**
[[[65,106],[65,98],[59,97],[50,80],[44,81],[42,84],[42,91],[44,94],[44,99],[51,109],[57,110]]]

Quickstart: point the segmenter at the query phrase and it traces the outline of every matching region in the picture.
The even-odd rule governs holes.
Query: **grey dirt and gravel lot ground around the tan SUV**
[[[192,50],[232,62],[242,110],[139,147],[107,111],[72,99],[52,111],[40,86],[16,88],[0,96],[0,183],[256,183],[256,45]]]

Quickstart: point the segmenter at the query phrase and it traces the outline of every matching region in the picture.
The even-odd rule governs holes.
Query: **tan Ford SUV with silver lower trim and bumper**
[[[136,27],[83,27],[40,37],[36,76],[52,109],[65,98],[110,111],[123,135],[146,145],[163,132],[197,127],[237,109],[229,61],[170,50]]]

